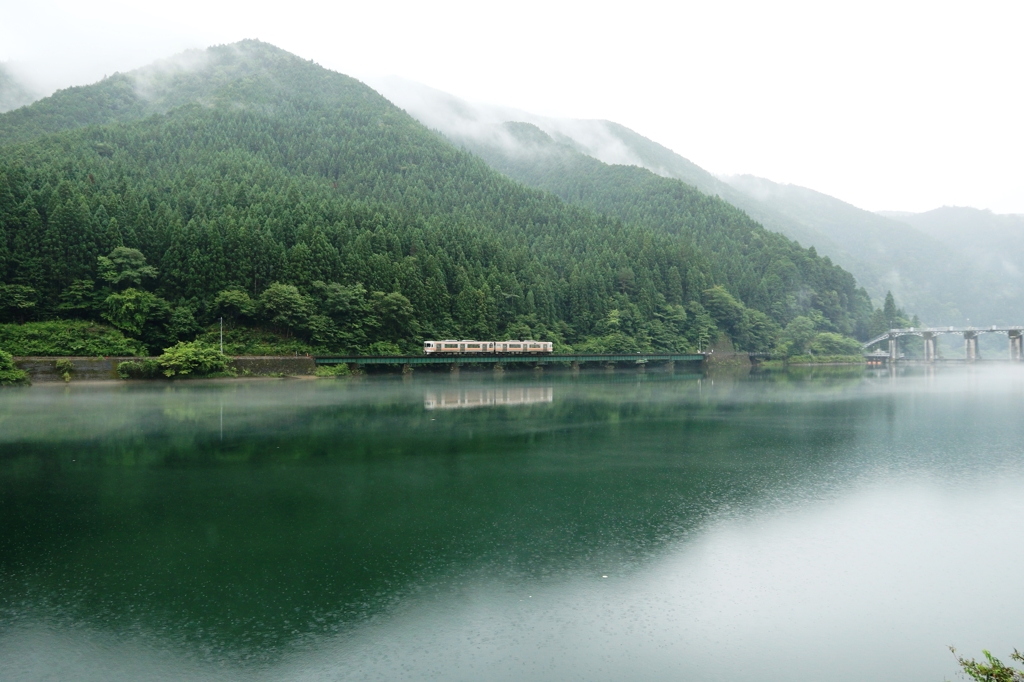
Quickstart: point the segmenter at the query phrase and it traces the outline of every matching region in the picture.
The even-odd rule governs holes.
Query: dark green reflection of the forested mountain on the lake
[[[877,409],[632,379],[450,412],[401,384],[120,394],[105,430],[6,449],[0,602],[265,654],[467,574],[632,570],[830,470]]]

